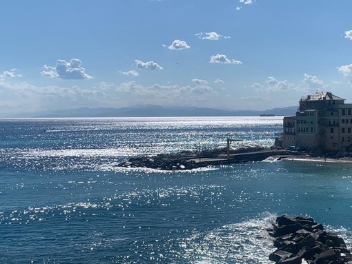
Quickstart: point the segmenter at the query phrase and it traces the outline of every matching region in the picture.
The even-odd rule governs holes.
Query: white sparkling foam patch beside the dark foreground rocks
[[[275,248],[265,228],[270,227],[275,218],[275,214],[265,213],[257,219],[195,233],[182,245],[185,257],[195,263],[271,263],[268,255]]]

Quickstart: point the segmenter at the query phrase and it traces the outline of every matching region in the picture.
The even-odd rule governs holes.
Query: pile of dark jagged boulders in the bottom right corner
[[[279,216],[268,232],[275,238],[269,259],[282,264],[352,264],[344,239],[324,231],[311,217]]]

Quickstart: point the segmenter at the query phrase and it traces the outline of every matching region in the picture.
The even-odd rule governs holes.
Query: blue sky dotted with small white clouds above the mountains
[[[352,102],[352,1],[13,0],[0,117],[135,105],[267,110]]]

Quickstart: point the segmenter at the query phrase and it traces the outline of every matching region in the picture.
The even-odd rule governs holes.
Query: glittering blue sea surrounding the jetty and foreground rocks
[[[270,147],[282,119],[0,119],[0,263],[271,263],[265,228],[282,214],[311,216],[351,247],[352,164],[117,166],[227,137]]]

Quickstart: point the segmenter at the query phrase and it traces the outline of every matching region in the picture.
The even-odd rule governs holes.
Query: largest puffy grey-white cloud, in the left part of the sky
[[[92,77],[86,74],[85,69],[81,66],[79,59],[70,59],[70,62],[58,59],[54,67],[44,65],[45,70],[41,72],[44,77],[58,77],[60,79],[91,79]]]

